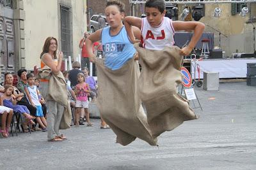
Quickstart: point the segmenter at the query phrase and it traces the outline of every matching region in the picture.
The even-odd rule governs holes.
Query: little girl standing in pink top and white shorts
[[[90,94],[90,87],[88,83],[85,83],[85,77],[83,73],[77,74],[77,85],[75,87],[76,93],[76,127],[79,127],[79,118],[81,113],[81,108],[84,108],[84,113],[86,117],[87,126],[93,126],[90,122],[89,112],[88,112],[88,94]]]

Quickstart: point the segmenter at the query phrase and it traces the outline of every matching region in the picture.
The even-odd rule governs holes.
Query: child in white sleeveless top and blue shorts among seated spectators
[[[38,97],[37,87],[34,85],[35,76],[32,73],[27,74],[28,86],[25,87],[26,97],[29,104],[36,108],[36,122],[40,125],[43,132],[47,132],[47,123],[44,118],[44,113],[42,110],[42,105]]]

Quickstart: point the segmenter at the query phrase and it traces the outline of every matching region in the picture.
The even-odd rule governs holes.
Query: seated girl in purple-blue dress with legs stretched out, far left
[[[4,85],[4,94],[0,98],[1,105],[12,108],[14,111],[24,115],[29,124],[35,125],[35,122],[33,122],[35,117],[29,115],[29,110],[26,106],[17,104],[17,100],[13,95],[13,90],[12,85]]]

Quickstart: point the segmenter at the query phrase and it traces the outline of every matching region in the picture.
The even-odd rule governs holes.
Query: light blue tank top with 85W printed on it
[[[115,36],[110,35],[110,27],[104,27],[102,29],[101,43],[105,66],[112,70],[122,67],[136,52],[124,26]]]

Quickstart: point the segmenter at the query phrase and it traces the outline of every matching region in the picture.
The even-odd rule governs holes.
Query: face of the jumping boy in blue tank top
[[[105,9],[106,19],[110,27],[118,27],[122,23],[124,13],[119,11],[116,5],[110,5]]]

